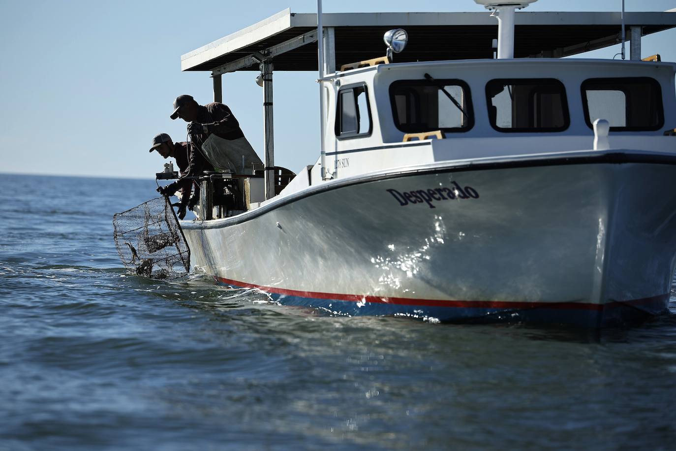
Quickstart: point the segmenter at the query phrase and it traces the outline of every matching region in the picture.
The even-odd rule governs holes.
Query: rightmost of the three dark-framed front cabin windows
[[[591,78],[582,83],[585,121],[610,122],[610,130],[659,130],[665,123],[662,90],[652,78]]]

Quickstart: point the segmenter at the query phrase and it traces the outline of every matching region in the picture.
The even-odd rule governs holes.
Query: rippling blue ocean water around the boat
[[[676,303],[626,329],[441,325],[149,281],[112,215],[154,188],[0,174],[1,451],[675,447]]]

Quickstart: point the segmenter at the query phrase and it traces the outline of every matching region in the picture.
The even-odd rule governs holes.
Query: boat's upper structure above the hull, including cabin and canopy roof
[[[204,181],[200,211],[216,210],[201,219],[366,172],[637,141],[646,150],[676,144],[676,64],[642,58],[641,49],[642,36],[676,27],[676,10],[625,14],[629,60],[561,58],[619,43],[619,13],[520,12],[509,59],[496,59],[498,24],[489,12],[322,20],[322,155],[298,174],[274,166],[272,79],[274,70],[317,70],[316,14],[287,9],[181,58],[182,70],[210,72],[214,101],[222,101],[228,72],[260,71],[264,88],[265,167]],[[406,30],[410,45],[383,57],[389,29]],[[224,186],[233,198],[224,197]]]

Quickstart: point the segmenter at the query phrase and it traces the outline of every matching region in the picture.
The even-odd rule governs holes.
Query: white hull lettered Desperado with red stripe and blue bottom
[[[665,312],[676,264],[676,166],[621,155],[381,174],[182,225],[195,270],[283,304],[602,326]]]

